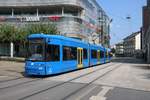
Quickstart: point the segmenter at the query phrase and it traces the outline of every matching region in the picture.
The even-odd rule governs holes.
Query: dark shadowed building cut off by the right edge
[[[150,0],[143,7],[142,50],[145,60],[150,63]]]

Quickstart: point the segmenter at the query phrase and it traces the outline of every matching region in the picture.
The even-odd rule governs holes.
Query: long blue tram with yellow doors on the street
[[[109,49],[58,35],[28,37],[27,75],[52,75],[110,61]]]

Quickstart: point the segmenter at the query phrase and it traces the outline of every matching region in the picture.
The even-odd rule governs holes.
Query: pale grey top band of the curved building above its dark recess
[[[0,7],[34,7],[51,5],[74,5],[80,6],[75,0],[0,0]]]

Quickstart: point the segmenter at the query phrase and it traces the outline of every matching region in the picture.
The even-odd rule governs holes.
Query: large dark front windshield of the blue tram
[[[28,46],[28,59],[31,61],[44,61],[45,45],[43,39],[30,39]]]

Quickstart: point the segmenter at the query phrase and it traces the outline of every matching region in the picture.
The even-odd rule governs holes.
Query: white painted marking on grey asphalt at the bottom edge
[[[107,98],[104,97],[110,90],[113,90],[114,88],[113,87],[106,87],[106,86],[103,86],[102,87],[102,91],[100,91],[97,96],[92,96],[90,97],[89,100],[106,100]]]

